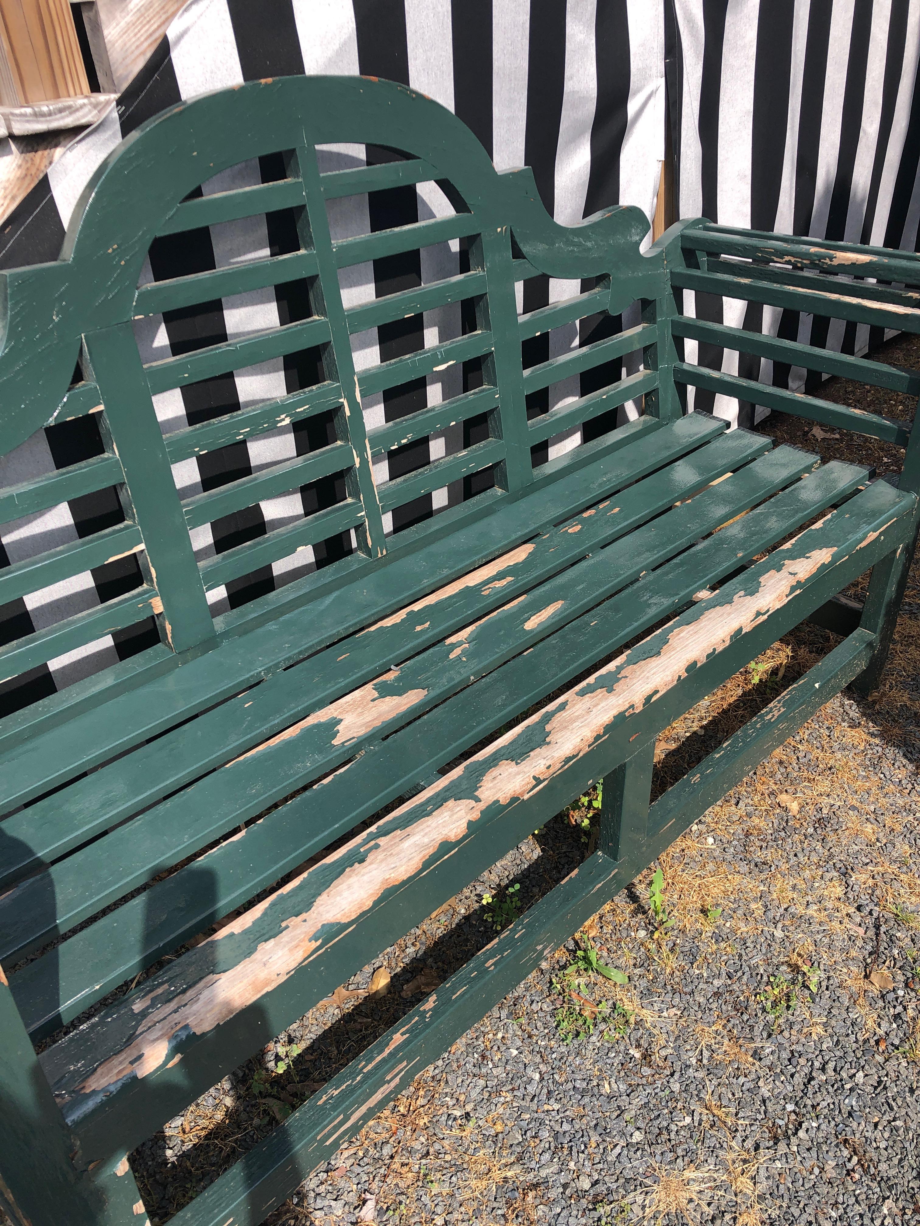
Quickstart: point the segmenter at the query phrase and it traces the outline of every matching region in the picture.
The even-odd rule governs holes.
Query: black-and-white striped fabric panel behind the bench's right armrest
[[[671,2],[671,0],[669,0]],[[918,246],[920,5],[909,0],[672,0],[678,213],[723,226]],[[865,353],[881,329],[684,294],[688,314]],[[872,335],[875,333],[875,335]],[[688,360],[801,389],[819,375],[687,341]],[[751,406],[689,403],[746,425]],[[761,416],[758,411],[758,417]]]

